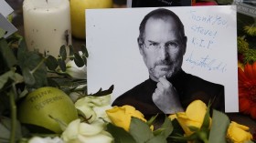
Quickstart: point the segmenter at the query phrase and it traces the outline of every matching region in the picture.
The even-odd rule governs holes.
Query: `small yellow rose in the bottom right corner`
[[[232,121],[229,124],[227,138],[232,143],[243,143],[245,141],[251,140],[252,135],[249,132],[248,127]]]

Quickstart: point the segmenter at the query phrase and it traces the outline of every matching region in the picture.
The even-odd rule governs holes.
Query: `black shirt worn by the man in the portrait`
[[[224,87],[208,82],[202,78],[185,73],[183,70],[178,72],[175,77],[168,79],[176,88],[182,107],[185,109],[194,100],[200,99],[211,107],[224,111]],[[112,106],[131,105],[144,115],[155,115],[163,113],[153,102],[152,95],[155,92],[156,82],[147,79],[140,85],[133,87],[122,96],[117,97]]]

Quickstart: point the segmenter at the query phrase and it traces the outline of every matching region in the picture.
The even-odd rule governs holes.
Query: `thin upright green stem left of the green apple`
[[[10,135],[10,143],[16,142],[16,99],[15,99],[15,88],[13,88],[8,93],[10,97],[10,105],[11,105],[11,135]]]

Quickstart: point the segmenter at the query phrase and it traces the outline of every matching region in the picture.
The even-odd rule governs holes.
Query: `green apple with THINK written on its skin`
[[[69,96],[56,87],[40,87],[21,101],[18,119],[21,123],[47,128],[55,133],[62,130],[57,120],[69,124],[78,112]]]

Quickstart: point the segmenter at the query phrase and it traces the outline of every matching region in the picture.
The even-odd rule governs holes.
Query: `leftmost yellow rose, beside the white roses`
[[[129,131],[132,117],[140,118],[146,122],[144,115],[132,106],[112,107],[112,109],[106,110],[106,113],[115,126],[126,131]]]

